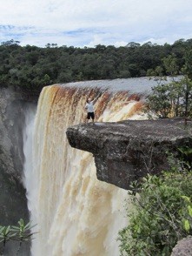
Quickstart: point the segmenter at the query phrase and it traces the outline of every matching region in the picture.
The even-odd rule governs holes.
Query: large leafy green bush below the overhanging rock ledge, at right
[[[168,256],[178,240],[192,234],[191,172],[148,175],[139,193],[129,194],[129,225],[118,237],[121,255]]]

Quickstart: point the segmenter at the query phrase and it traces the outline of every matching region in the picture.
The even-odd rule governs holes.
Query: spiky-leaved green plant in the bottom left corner
[[[35,232],[31,232],[31,223],[25,223],[23,219],[18,221],[18,226],[0,226],[0,243],[3,243],[3,254],[6,244],[11,240],[17,240],[19,245],[16,251],[18,255],[23,242],[29,241]]]

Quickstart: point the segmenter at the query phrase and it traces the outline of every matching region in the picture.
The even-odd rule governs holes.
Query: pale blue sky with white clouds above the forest
[[[192,38],[191,0],[0,0],[0,43],[94,47]]]

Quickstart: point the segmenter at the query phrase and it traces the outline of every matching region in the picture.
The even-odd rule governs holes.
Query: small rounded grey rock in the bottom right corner
[[[191,256],[192,255],[192,236],[180,240],[173,249],[171,256]]]

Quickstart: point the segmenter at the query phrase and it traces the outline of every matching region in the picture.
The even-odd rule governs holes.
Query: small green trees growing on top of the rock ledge
[[[163,67],[171,77],[169,84],[163,84],[165,77],[162,77],[161,67],[158,66],[155,71],[149,71],[154,74],[157,86],[152,88],[152,93],[147,98],[148,110],[162,118],[192,116],[192,80],[189,78],[190,68],[192,69],[192,64],[189,64],[192,51],[189,52],[190,54],[185,54],[185,63],[182,66],[183,77],[179,81],[175,80],[179,68],[174,55],[162,59]]]

